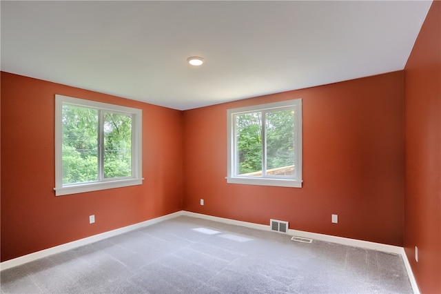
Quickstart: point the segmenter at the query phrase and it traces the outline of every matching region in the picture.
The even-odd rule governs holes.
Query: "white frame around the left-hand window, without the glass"
[[[101,179],[101,181],[96,182],[63,184],[63,104],[94,108],[97,110],[107,110],[132,116],[132,177],[117,177],[112,179]],[[142,110],[137,108],[55,95],[55,195],[61,196],[143,184],[142,115]]]

